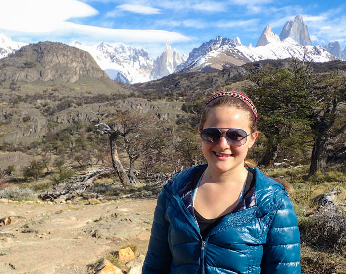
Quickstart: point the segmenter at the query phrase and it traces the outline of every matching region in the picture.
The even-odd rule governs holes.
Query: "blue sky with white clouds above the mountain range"
[[[344,0],[0,0],[0,33],[25,43],[122,42],[153,57],[169,40],[188,55],[218,35],[256,46],[267,24],[279,35],[298,14],[313,45],[338,41],[344,49]]]

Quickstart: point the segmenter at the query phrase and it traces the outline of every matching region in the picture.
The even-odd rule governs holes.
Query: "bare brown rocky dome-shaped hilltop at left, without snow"
[[[59,79],[65,83],[74,83],[80,77],[108,78],[88,52],[62,43],[30,44],[0,60],[2,81]]]

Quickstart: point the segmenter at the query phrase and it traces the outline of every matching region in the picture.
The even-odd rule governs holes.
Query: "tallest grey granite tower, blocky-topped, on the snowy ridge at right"
[[[280,33],[280,39],[282,41],[287,37],[291,37],[299,45],[312,45],[309,31],[301,15],[297,15],[293,20],[287,21],[284,25]]]

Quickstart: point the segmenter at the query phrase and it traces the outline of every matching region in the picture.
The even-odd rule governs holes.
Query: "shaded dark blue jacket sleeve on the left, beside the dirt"
[[[148,252],[142,274],[170,273],[172,254],[168,244],[169,222],[166,220],[165,190],[161,191],[154,212]]]

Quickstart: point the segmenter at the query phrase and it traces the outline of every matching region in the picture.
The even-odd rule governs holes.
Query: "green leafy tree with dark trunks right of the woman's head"
[[[310,133],[313,139],[310,174],[323,170],[328,145],[346,131],[345,116],[340,117],[340,105],[345,103],[345,76],[316,73],[311,62],[291,61],[277,69],[254,68],[248,79],[255,84],[249,90],[259,111],[259,130],[268,139],[260,163],[269,165],[278,147],[304,129],[306,134],[301,134],[299,140],[308,142]],[[338,119],[344,120],[338,123],[340,127]]]

